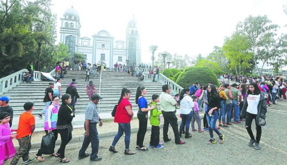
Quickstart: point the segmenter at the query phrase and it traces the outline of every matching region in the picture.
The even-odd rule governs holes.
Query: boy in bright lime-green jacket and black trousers
[[[150,125],[152,125],[152,134],[150,135],[150,148],[154,147],[154,149],[161,149],[163,148],[162,145],[159,145],[160,141],[160,130],[158,128],[160,124],[159,115],[162,114],[161,111],[158,111],[157,102],[160,101],[159,95],[153,94],[152,95],[152,103],[150,104],[155,105],[156,108],[150,110]]]

